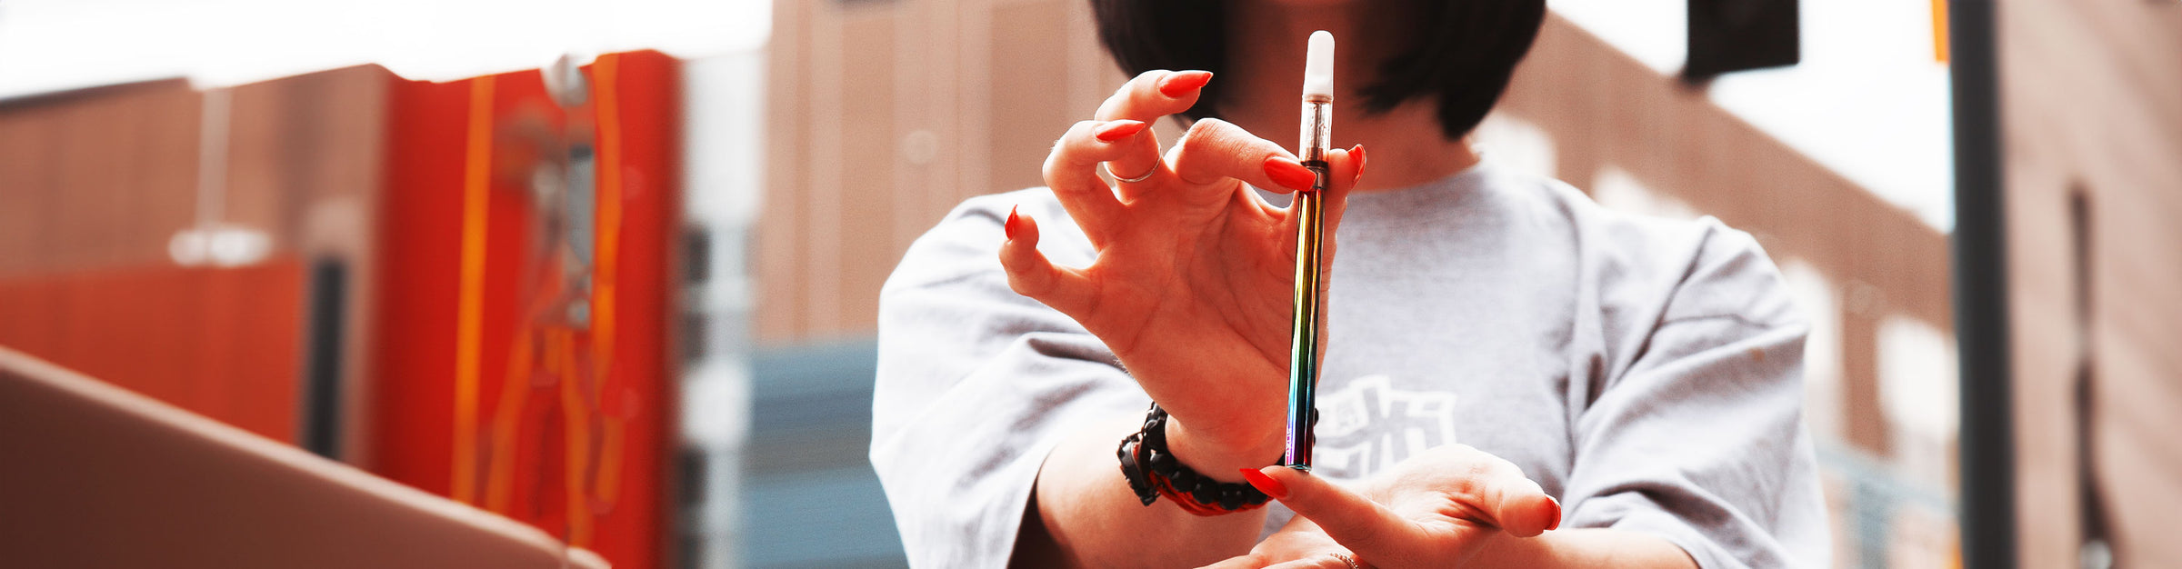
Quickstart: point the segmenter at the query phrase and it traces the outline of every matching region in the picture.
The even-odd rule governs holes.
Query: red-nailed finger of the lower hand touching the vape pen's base
[[[1290,467],[1242,469],[1250,486],[1311,519],[1333,541],[1362,558],[1405,558],[1403,536],[1416,532],[1407,519],[1379,501]]]

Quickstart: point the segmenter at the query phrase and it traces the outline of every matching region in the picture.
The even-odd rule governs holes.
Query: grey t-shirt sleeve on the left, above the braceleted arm
[[[1098,338],[1008,288],[1017,203],[1056,264],[1089,262],[1050,192],[1023,190],[956,207],[879,292],[871,464],[916,567],[1004,567],[1052,447],[1150,403]]]

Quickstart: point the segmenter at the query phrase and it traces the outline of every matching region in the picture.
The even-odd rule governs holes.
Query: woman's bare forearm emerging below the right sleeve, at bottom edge
[[[1473,567],[1654,567],[1698,569],[1671,541],[1628,530],[1560,530],[1534,538],[1501,536]]]

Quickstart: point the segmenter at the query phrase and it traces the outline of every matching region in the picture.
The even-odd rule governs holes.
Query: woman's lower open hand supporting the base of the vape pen
[[[1560,501],[1523,471],[1464,445],[1403,460],[1355,493],[1287,467],[1244,473],[1296,519],[1218,569],[1464,567],[1506,541],[1560,528]]]

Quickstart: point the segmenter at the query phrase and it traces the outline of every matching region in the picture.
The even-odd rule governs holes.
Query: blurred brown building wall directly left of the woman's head
[[[916,235],[1041,185],[1052,142],[1126,81],[1089,28],[1074,0],[775,4],[757,340],[871,336]]]

